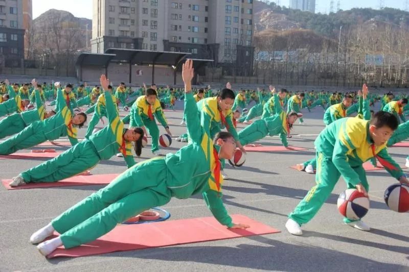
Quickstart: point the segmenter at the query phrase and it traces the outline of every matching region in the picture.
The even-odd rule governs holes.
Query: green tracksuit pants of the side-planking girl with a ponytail
[[[54,159],[22,172],[20,176],[26,183],[56,182],[93,168],[99,161],[94,144],[85,140]]]

